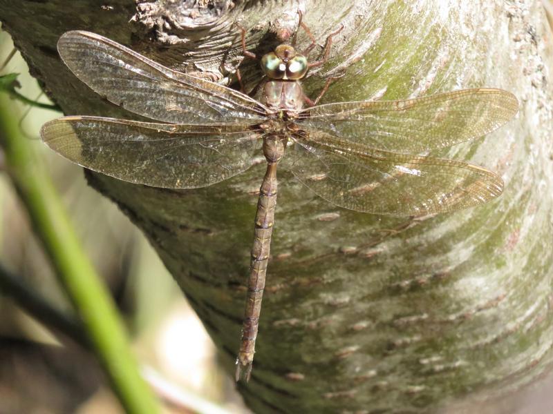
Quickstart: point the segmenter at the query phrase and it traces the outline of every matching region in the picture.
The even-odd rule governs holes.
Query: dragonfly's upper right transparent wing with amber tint
[[[510,92],[466,89],[405,101],[328,103],[303,110],[297,123],[375,150],[420,154],[482,137],[517,111]]]

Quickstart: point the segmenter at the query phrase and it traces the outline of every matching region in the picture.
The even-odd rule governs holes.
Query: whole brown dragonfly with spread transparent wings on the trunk
[[[245,51],[243,39],[244,34]],[[321,61],[310,63],[307,53],[285,43],[261,58],[257,99],[171,70],[91,32],[66,32],[57,48],[93,91],[149,119],[68,116],[44,124],[44,143],[66,159],[130,183],[186,189],[234,177],[263,152],[267,168],[254,219],[237,381],[250,380],[252,371],[277,166],[331,204],[377,215],[450,212],[503,191],[496,173],[427,153],[473,141],[512,119],[518,101],[505,90],[317,105],[318,99],[304,94],[300,79]]]

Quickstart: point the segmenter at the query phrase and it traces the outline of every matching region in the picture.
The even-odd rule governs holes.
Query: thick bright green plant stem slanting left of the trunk
[[[158,403],[138,373],[115,304],[82,251],[53,183],[31,142],[21,135],[17,119],[13,103],[0,95],[0,145],[35,232],[126,411],[158,413]]]

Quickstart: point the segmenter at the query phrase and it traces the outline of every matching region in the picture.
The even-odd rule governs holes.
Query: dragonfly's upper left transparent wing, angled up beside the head
[[[173,124],[256,124],[265,107],[241,92],[176,72],[91,32],[66,32],[59,55],[86,85],[138,115]]]

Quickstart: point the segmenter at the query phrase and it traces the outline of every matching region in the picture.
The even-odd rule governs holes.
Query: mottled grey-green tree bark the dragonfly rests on
[[[184,12],[187,3],[216,7]],[[229,3],[158,1],[137,12],[130,0],[104,8],[84,0],[21,1],[15,8],[0,0],[0,17],[67,114],[132,116],[67,72],[55,52],[66,30],[99,32],[167,66],[225,82],[240,61],[233,23],[241,19],[248,45],[263,52],[274,46],[272,33],[293,27],[297,8],[321,41],[345,25],[330,62],[305,82],[311,96],[325,77],[346,70],[324,101],[489,86],[514,92],[521,103],[505,128],[438,154],[503,175],[504,195],[480,208],[425,220],[363,215],[279,175],[254,371],[239,386],[252,410],[434,411],[453,400],[501,406],[504,395],[543,375],[553,357],[553,113],[552,39],[540,4]],[[304,32],[299,43],[308,44]],[[259,78],[254,62],[241,70],[249,85]],[[88,175],[147,234],[229,373],[264,168],[180,192]]]

